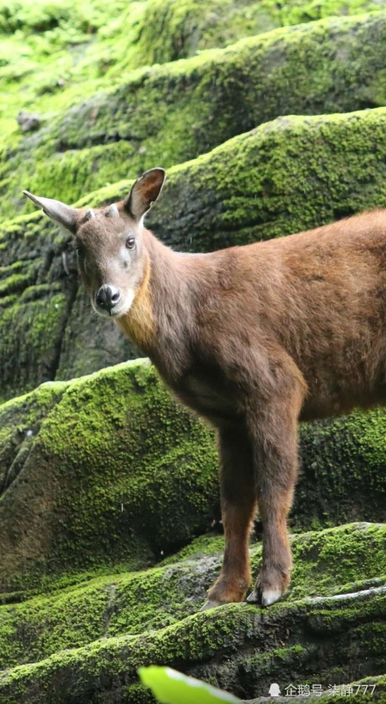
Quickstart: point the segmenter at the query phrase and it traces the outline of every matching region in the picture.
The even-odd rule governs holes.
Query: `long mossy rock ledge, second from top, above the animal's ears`
[[[4,146],[3,218],[30,211],[20,184],[71,202],[154,165],[195,158],[279,115],[385,105],[385,65],[379,12],[285,27],[137,70]]]

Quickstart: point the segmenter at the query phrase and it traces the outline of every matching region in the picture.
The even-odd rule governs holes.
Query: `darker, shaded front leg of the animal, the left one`
[[[249,535],[256,511],[253,455],[242,428],[220,430],[220,498],[225,532],[223,567],[204,608],[243,601],[251,582]]]

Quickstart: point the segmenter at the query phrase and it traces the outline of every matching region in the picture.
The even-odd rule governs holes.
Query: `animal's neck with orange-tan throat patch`
[[[144,230],[144,274],[127,315],[118,325],[161,373],[185,357],[192,322],[189,266],[184,258]]]

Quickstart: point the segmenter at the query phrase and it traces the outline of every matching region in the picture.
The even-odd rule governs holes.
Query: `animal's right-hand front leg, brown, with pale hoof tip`
[[[297,398],[285,408],[275,403],[254,417],[254,463],[259,515],[263,524],[263,564],[251,603],[278,601],[290,584],[292,556],[287,515],[297,479]]]

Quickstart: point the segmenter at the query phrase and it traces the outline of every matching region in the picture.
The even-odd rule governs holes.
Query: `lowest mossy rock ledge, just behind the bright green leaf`
[[[355,610],[356,622],[361,622],[359,631]],[[348,681],[349,672],[362,672],[362,676],[369,670],[374,675],[382,673],[382,647],[377,639],[372,641],[371,629],[374,627],[378,638],[384,610],[385,597],[376,591],[278,604],[270,608],[269,614],[247,605],[228,605],[189,616],[160,631],[101,639],[84,648],[63,650],[37,664],[15,667],[0,682],[1,696],[6,704],[43,703],[47,691],[57,704],[70,703],[75,696],[82,698],[85,694],[95,700],[135,702],[127,696],[133,694],[130,685],[137,683],[137,667],[151,662],[178,663],[180,670],[220,686],[225,680],[226,689],[250,698],[261,689],[268,691],[272,670],[266,674],[266,658],[260,658],[260,664],[256,661],[251,668],[247,654],[268,648],[280,661],[282,679],[289,680],[299,658],[306,661],[306,653],[308,679],[318,676],[327,689],[331,673],[337,677],[339,672],[341,682]],[[321,649],[324,661],[320,660]]]

